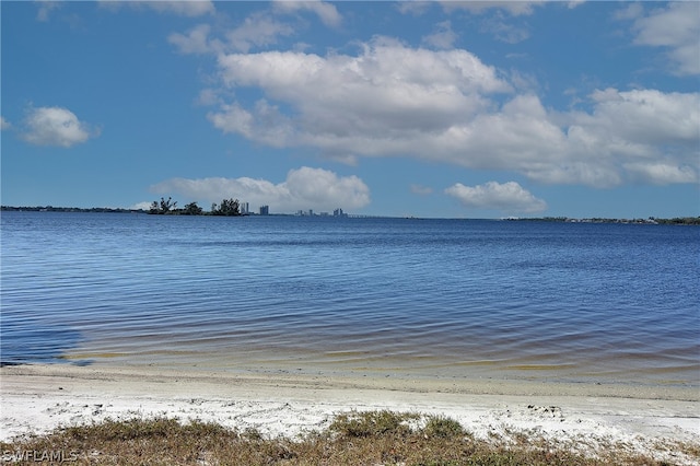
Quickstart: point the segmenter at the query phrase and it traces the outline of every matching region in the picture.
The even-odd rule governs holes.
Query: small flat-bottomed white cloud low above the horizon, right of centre
[[[536,213],[547,209],[547,202],[515,182],[488,182],[474,187],[457,183],[445,189],[445,194],[469,209],[495,209],[505,213]]]

